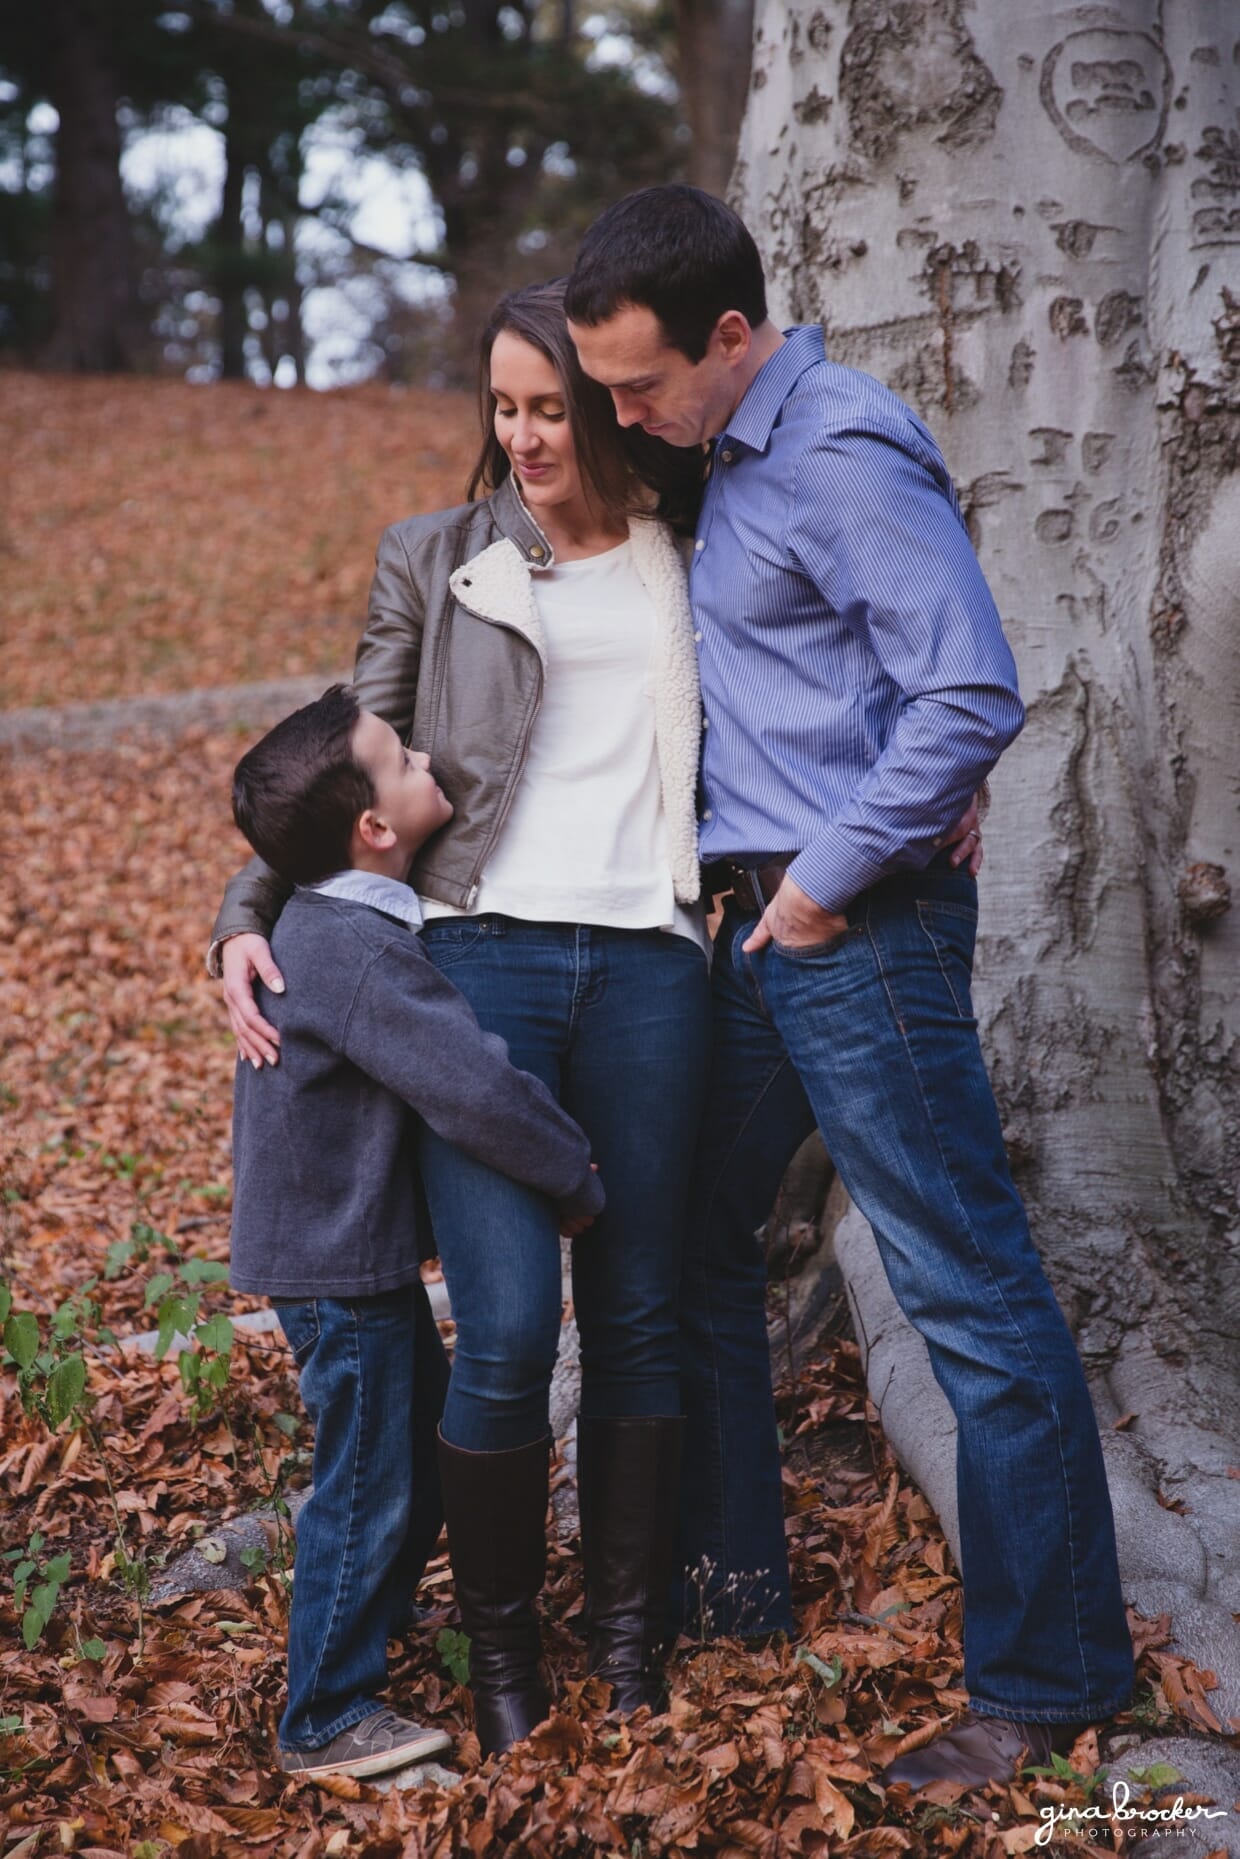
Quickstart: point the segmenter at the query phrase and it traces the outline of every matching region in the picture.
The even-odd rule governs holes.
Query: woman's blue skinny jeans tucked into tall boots
[[[582,1413],[680,1413],[677,1290],[710,1054],[706,957],[658,930],[495,915],[429,922],[424,941],[513,1065],[589,1136],[608,1205],[573,1244]],[[420,1156],[455,1318],[444,1439],[467,1452],[545,1439],[561,1322],[556,1208],[431,1130]]]

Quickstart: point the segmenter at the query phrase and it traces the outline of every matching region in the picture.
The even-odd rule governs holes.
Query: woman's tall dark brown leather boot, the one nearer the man
[[[664,1708],[682,1433],[679,1415],[576,1422],[587,1669],[625,1714]]]

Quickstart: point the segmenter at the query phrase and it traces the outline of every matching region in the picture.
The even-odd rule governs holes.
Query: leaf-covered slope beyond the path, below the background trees
[[[0,708],[351,664],[379,530],[463,498],[463,394],[0,374]]]

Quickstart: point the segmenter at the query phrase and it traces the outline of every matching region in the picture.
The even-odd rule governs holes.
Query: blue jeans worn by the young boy
[[[279,1740],[320,1749],[379,1708],[387,1640],[407,1623],[439,1536],[435,1433],[448,1363],[420,1281],[275,1311],[314,1422]]]

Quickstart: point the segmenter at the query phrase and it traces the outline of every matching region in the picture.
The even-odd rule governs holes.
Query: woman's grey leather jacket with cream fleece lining
[[[695,790],[701,699],[693,619],[677,541],[634,517],[634,565],[658,617],[654,732],[677,898],[699,894]],[[418,851],[409,881],[468,909],[508,816],[543,695],[545,639],[530,576],[554,554],[511,478],[483,502],[407,517],[379,539],[370,617],[353,684],[363,708],[426,749],[454,818]],[[270,935],[290,887],[251,859],[227,885],[212,930]]]

